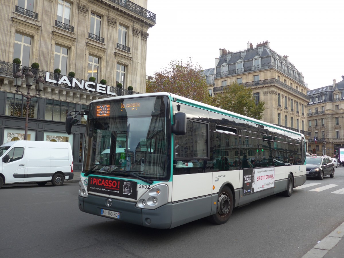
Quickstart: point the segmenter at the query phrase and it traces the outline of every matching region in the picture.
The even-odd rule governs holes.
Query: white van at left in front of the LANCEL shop
[[[0,188],[26,182],[60,186],[74,177],[68,142],[11,141],[0,146],[0,158]]]

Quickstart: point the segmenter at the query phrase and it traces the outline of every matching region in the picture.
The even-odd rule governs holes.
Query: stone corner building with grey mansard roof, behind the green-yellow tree
[[[309,138],[307,84],[288,56],[273,51],[268,41],[256,47],[249,42],[241,51],[220,49],[215,68],[204,70],[204,75],[209,93],[214,96],[233,82],[250,87],[255,100],[265,102],[262,121],[300,130]]]

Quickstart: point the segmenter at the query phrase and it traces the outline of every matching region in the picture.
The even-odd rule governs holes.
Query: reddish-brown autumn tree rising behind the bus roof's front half
[[[202,76],[202,67],[192,62],[192,58],[183,62],[173,60],[169,67],[155,73],[152,81],[146,80],[146,93],[170,92],[185,98],[212,103],[205,78]]]

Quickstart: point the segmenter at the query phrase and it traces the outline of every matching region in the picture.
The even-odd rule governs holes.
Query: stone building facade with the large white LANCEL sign
[[[70,142],[80,170],[85,120],[67,135],[66,114],[95,99],[145,92],[155,14],[147,0],[15,0],[3,1],[0,15],[0,144],[23,139],[26,98],[15,91],[13,75],[30,68],[33,88],[24,78],[19,89],[34,94],[39,76],[45,83],[41,96],[30,99],[28,140]]]

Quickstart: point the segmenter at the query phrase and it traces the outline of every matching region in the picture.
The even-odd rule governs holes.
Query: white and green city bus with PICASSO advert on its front
[[[302,133],[171,93],[94,100],[69,112],[67,133],[80,115],[86,213],[152,228],[223,224],[234,207],[306,181]]]

